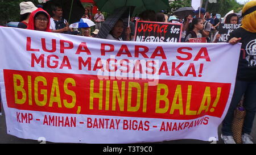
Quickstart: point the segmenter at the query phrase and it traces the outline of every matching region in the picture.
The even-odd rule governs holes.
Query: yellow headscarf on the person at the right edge
[[[255,6],[256,6],[256,0],[247,2],[245,6],[243,6],[242,14],[245,14],[247,10]],[[244,28],[246,31],[256,33],[256,10],[243,16],[241,27]]]

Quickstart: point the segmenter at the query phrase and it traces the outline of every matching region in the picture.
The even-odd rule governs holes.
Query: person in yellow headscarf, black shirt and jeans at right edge
[[[256,113],[256,0],[247,2],[242,10],[242,26],[229,36],[229,43],[242,43],[237,69],[236,86],[229,110],[222,122],[221,138],[224,143],[236,143],[232,136],[232,121],[242,95],[246,116],[242,129],[242,142],[252,144],[250,136]]]

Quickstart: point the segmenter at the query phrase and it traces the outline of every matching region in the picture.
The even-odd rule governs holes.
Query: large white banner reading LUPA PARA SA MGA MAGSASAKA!
[[[241,44],[0,28],[7,133],[56,143],[218,139]]]

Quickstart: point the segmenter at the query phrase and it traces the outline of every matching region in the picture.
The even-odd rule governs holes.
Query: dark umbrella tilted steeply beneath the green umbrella
[[[95,1],[95,0],[94,0]],[[123,18],[124,16],[127,18],[129,14],[129,7],[121,7],[119,9],[116,9],[112,15],[110,15],[104,23],[102,23],[101,29],[98,32],[99,38],[105,39],[108,33],[112,30],[114,27],[114,24],[117,23],[117,20],[119,18]],[[125,24],[125,22],[124,22]]]

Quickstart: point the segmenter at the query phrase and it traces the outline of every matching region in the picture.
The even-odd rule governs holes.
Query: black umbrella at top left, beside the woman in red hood
[[[43,9],[52,16],[51,5],[59,4],[63,9],[63,18],[68,20],[68,23],[79,22],[84,15],[84,7],[79,0],[51,0],[43,5]]]

